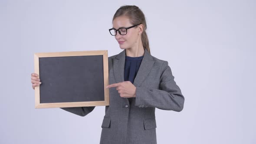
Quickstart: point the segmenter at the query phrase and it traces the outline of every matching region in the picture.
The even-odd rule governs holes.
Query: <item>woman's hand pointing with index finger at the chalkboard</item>
[[[122,98],[134,98],[136,96],[136,87],[130,81],[111,84],[106,88],[113,87],[116,87],[116,90]]]

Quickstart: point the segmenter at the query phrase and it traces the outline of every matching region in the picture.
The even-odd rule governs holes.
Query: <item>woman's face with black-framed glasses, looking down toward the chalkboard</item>
[[[118,16],[113,20],[113,28],[115,29],[130,26],[133,25],[125,16]],[[120,33],[117,32],[115,39],[118,41],[118,44],[121,49],[130,49],[138,45],[139,40],[141,39],[141,35],[139,35],[138,33],[141,33],[141,25],[127,29],[126,35],[120,35]]]

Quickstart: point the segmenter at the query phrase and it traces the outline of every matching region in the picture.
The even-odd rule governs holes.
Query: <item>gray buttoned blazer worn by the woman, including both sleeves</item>
[[[129,104],[115,88],[109,89],[110,105],[105,107],[100,144],[156,144],[155,108],[181,111],[184,96],[174,82],[167,61],[144,57],[134,80],[136,97]],[[109,84],[124,82],[125,50],[108,57]],[[62,108],[85,116],[95,107]]]

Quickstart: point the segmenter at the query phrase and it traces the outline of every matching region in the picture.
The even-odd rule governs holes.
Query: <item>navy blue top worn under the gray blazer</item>
[[[137,72],[140,68],[141,61],[143,59],[143,56],[139,57],[130,57],[130,56],[125,56],[125,81],[130,81],[132,84],[134,82],[134,79],[137,75]],[[130,104],[131,104],[131,99],[128,98]]]

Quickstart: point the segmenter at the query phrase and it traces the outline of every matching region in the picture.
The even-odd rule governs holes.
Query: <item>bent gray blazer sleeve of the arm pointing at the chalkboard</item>
[[[159,89],[136,87],[135,106],[182,111],[183,105],[184,96],[174,81],[167,61],[162,65]]]

